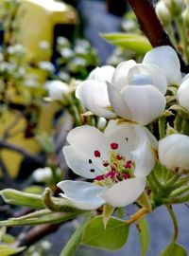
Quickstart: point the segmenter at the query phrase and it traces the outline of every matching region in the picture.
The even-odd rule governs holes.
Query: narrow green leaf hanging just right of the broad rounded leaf
[[[149,246],[149,229],[146,219],[141,219],[137,222],[141,244],[141,256],[146,256]]]

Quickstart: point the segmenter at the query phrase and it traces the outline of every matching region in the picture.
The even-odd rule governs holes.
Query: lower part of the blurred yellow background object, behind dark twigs
[[[38,133],[43,131],[51,132],[53,130],[53,118],[57,110],[58,104],[52,102],[44,104],[40,109],[40,117],[36,130]],[[23,148],[31,154],[38,154],[41,151],[41,146],[35,137],[25,137],[26,118],[21,116],[18,111],[5,111],[0,119],[0,137],[3,137],[6,131],[9,130],[9,138],[5,141],[11,145]],[[19,174],[20,164],[24,156],[16,151],[2,149],[1,156],[4,164],[9,170],[11,177],[16,177]]]

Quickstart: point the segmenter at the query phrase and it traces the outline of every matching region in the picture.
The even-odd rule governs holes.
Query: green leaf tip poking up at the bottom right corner
[[[187,256],[187,253],[179,244],[172,242],[163,249],[160,256]]]

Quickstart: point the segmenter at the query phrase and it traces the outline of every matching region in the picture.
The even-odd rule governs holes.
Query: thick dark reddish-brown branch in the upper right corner
[[[158,19],[152,1],[150,0],[128,0],[130,7],[133,9],[141,30],[145,33],[153,47],[171,46],[175,50],[169,36],[164,31],[163,26]],[[177,50],[176,50],[177,51]],[[184,63],[180,53],[177,51],[180,59],[180,69],[184,73],[189,72],[189,66]]]

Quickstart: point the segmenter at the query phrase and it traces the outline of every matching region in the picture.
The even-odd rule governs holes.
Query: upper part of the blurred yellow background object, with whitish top
[[[48,42],[54,52],[57,37],[70,39],[78,23],[77,11],[60,1],[22,0],[20,13],[19,41],[26,46],[29,61],[39,61],[40,42]]]

